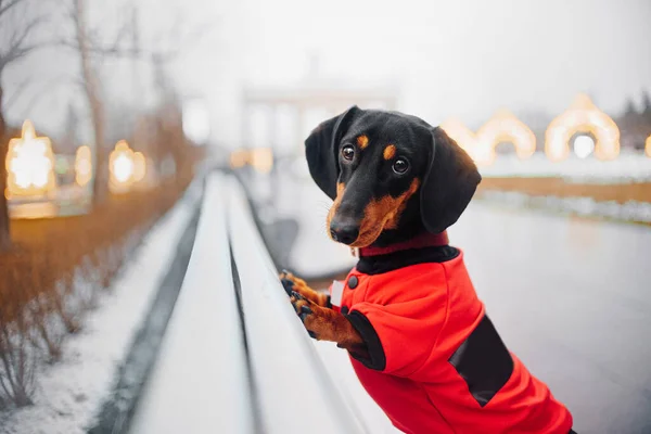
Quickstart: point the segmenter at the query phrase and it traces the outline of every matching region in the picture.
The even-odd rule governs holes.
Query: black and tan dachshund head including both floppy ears
[[[334,200],[330,235],[355,247],[444,231],[482,179],[444,130],[397,112],[353,106],[319,125],[305,146],[311,177]]]

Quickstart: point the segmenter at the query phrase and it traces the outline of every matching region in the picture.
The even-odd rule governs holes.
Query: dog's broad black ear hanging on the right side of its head
[[[454,225],[482,177],[472,158],[439,127],[432,129],[430,166],[421,187],[421,217],[427,231]]]

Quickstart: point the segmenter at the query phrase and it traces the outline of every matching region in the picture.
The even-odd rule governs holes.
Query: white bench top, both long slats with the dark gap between
[[[210,175],[190,267],[131,432],[367,432],[347,403],[289,303],[244,190],[231,176]]]

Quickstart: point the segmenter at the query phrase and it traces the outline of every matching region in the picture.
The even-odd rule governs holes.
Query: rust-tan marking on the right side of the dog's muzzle
[[[363,210],[363,218],[359,228],[359,237],[352,247],[366,247],[371,245],[385,229],[397,229],[400,215],[407,207],[409,197],[418,191],[420,180],[414,178],[409,189],[397,197],[385,195],[371,201]]]

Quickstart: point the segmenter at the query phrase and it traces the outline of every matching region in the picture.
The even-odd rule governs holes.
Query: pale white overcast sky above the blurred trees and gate
[[[102,17],[103,1],[89,2]],[[144,37],[169,28],[178,16],[186,27],[210,23],[209,34],[170,74],[184,95],[206,101],[213,139],[231,145],[240,140],[242,88],[296,84],[310,55],[318,56],[323,76],[342,84],[397,86],[398,108],[432,124],[458,116],[476,127],[500,107],[551,116],[582,91],[616,114],[627,97],[639,100],[642,89],[651,90],[649,0],[138,4]],[[33,62],[13,68],[5,86],[17,84]],[[105,77],[106,87],[112,94],[138,99],[124,74]],[[64,110],[74,98],[65,90],[41,103],[47,110],[25,114],[16,107],[10,118],[31,115],[53,127],[60,123],[56,107]],[[256,133],[264,141],[261,124]]]

